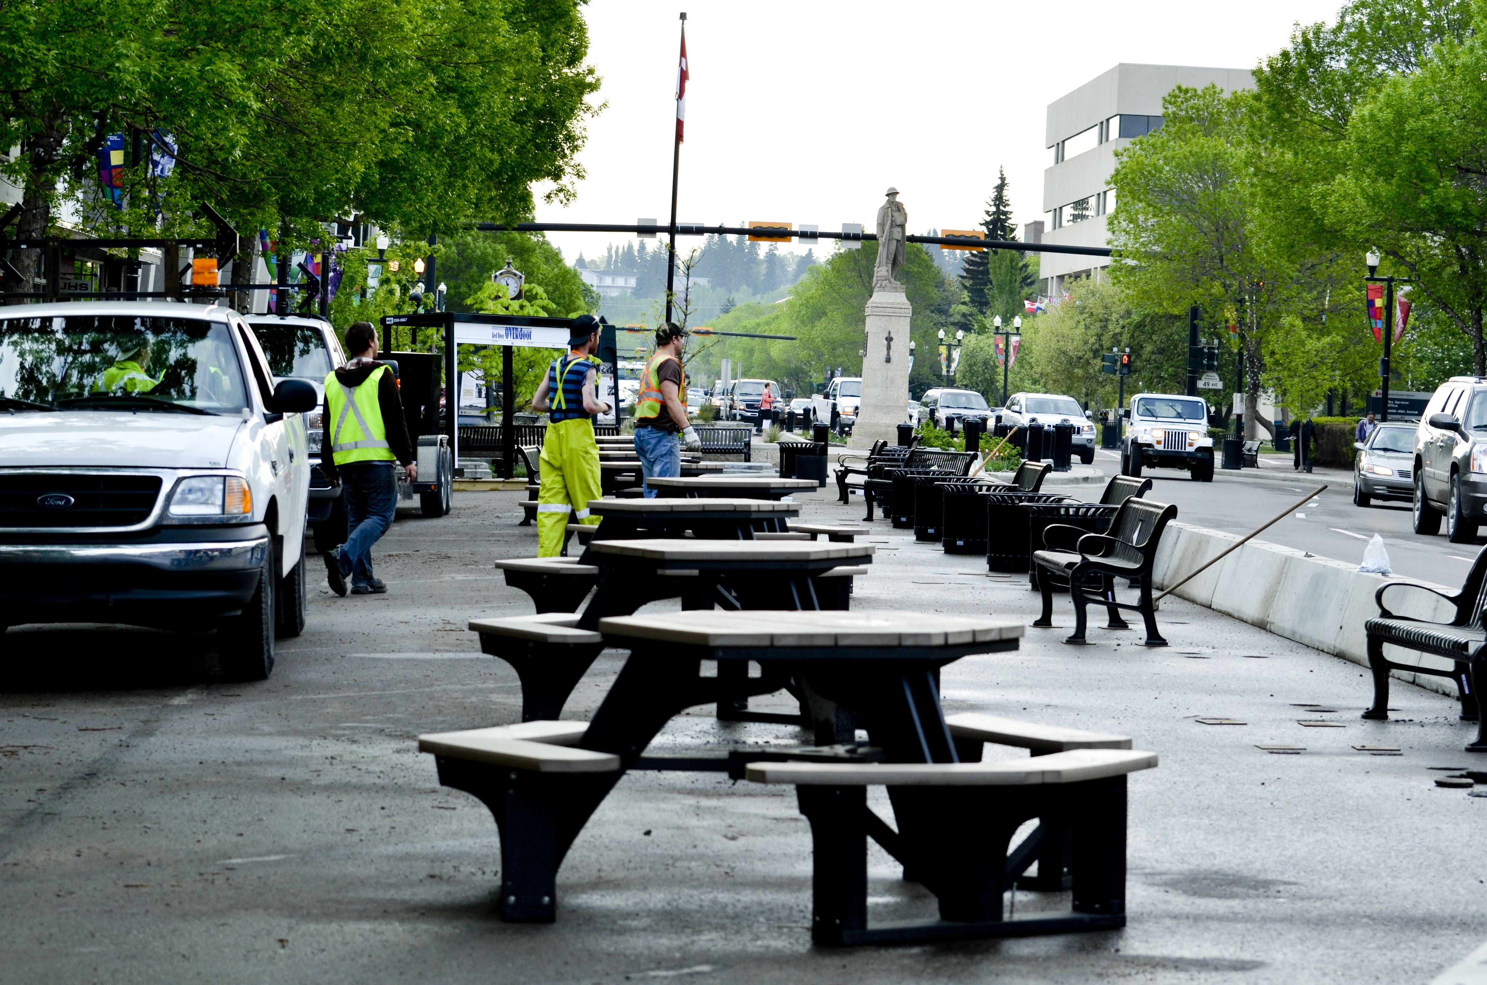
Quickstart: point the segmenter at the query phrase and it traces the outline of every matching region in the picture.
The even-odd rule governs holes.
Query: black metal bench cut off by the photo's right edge
[[[1456,615],[1450,622],[1396,616],[1384,606],[1384,594],[1398,588],[1413,588],[1444,598],[1456,607]],[[1378,586],[1374,601],[1378,604],[1378,615],[1364,623],[1368,637],[1368,667],[1374,676],[1374,705],[1364,713],[1364,717],[1375,720],[1389,717],[1389,671],[1399,670],[1450,677],[1456,681],[1462,720],[1483,720],[1475,684],[1487,681],[1487,662],[1484,662],[1487,629],[1483,628],[1484,607],[1487,607],[1487,548],[1477,554],[1462,591],[1454,595],[1442,595],[1414,582],[1386,582]],[[1384,656],[1384,644],[1442,656],[1451,661],[1451,670],[1398,664]],[[1478,729],[1477,741],[1466,748],[1487,753],[1487,722]]]

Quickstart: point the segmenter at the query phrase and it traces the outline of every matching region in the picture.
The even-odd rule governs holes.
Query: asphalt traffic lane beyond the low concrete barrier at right
[[[1120,457],[1100,449],[1094,466],[1105,475],[1120,472]],[[1213,482],[1194,482],[1176,469],[1145,469],[1151,478],[1148,498],[1176,503],[1178,519],[1197,527],[1246,534],[1282,510],[1286,518],[1259,534],[1259,540],[1300,548],[1323,558],[1362,564],[1364,548],[1374,534],[1384,539],[1395,574],[1457,588],[1484,543],[1450,543],[1442,533],[1422,537],[1410,527],[1410,504],[1374,500],[1370,507],[1353,506],[1353,476],[1340,469],[1297,473],[1289,466],[1265,463],[1267,478],[1252,478],[1251,470],[1216,470]],[[1328,484],[1328,490],[1300,509],[1286,509],[1309,491]],[[1102,487],[1078,488],[1080,498],[1097,500]],[[1484,528],[1487,530],[1487,528]]]

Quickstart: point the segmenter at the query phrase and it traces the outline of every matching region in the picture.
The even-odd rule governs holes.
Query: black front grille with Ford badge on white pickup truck
[[[159,495],[150,475],[0,473],[0,527],[134,527]]]

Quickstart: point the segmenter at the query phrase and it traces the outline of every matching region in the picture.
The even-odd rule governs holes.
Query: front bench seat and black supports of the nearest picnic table
[[[758,762],[745,775],[796,784],[813,848],[812,939],[843,946],[1124,927],[1126,777],[1155,765],[1155,753],[1072,748],[990,763]],[[891,787],[898,832],[868,809],[874,784]],[[1008,854],[1033,817],[1044,823]],[[1066,833],[1078,859],[1072,912],[1004,920],[1002,894],[1038,857],[1047,832]],[[867,925],[868,836],[938,897],[938,921]]]

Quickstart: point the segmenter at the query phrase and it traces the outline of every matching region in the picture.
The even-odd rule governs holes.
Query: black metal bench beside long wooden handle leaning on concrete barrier
[[[1069,579],[1069,597],[1074,601],[1074,632],[1065,643],[1086,643],[1086,606],[1103,606],[1109,613],[1108,629],[1129,629],[1120,617],[1121,609],[1141,613],[1146,623],[1146,646],[1167,646],[1157,631],[1157,612],[1151,598],[1151,568],[1157,559],[1157,545],[1167,524],[1178,515],[1176,506],[1152,503],[1136,497],[1127,498],[1115,510],[1109,534],[1091,534],[1080,527],[1053,525],[1042,531],[1044,551],[1032,555],[1033,564],[1042,573],[1060,574]],[[1038,591],[1042,595],[1042,615],[1032,625],[1053,626],[1051,579],[1039,573]],[[1121,603],[1115,598],[1115,579],[1124,577],[1138,583],[1139,601]]]

